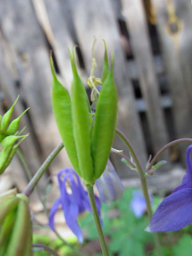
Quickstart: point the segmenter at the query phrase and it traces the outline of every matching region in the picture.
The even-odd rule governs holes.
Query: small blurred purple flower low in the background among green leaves
[[[133,199],[130,204],[130,209],[134,213],[135,217],[140,218],[143,216],[144,212],[147,209],[145,198],[140,190],[133,190],[132,197]],[[152,195],[149,195],[149,198],[150,202],[152,203]]]

